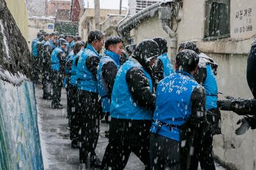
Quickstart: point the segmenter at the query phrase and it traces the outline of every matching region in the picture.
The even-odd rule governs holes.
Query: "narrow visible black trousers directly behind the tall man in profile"
[[[79,138],[79,117],[77,114],[77,87],[69,85],[69,96],[70,96],[70,117],[68,117],[68,122],[70,122],[70,139],[76,140]]]

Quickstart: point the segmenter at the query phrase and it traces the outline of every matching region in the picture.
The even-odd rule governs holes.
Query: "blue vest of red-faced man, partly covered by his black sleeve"
[[[105,50],[105,56],[100,58],[99,67],[97,70],[97,83],[99,96],[102,102],[102,111],[109,112],[110,111],[110,100],[108,99],[108,89],[104,80],[102,79],[102,66],[107,62],[113,62],[117,69],[120,68],[120,56],[114,52]]]

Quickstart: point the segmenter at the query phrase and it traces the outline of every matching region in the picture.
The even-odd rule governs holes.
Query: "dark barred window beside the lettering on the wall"
[[[230,36],[230,0],[205,2],[205,40]]]

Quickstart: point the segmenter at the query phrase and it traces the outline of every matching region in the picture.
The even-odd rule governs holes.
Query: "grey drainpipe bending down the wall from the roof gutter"
[[[162,24],[164,31],[170,36],[171,38],[171,53],[172,53],[172,60],[175,57],[177,52],[177,34],[175,31],[171,29],[170,22],[172,20],[172,7],[159,7],[158,8],[158,19],[159,22]]]

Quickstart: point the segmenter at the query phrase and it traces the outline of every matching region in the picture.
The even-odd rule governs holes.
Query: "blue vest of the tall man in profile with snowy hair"
[[[89,56],[99,57],[99,53],[97,53],[90,44],[86,46],[77,63],[77,89],[86,90],[88,92],[98,92],[97,80],[94,78],[92,72],[86,67],[86,59]]]

